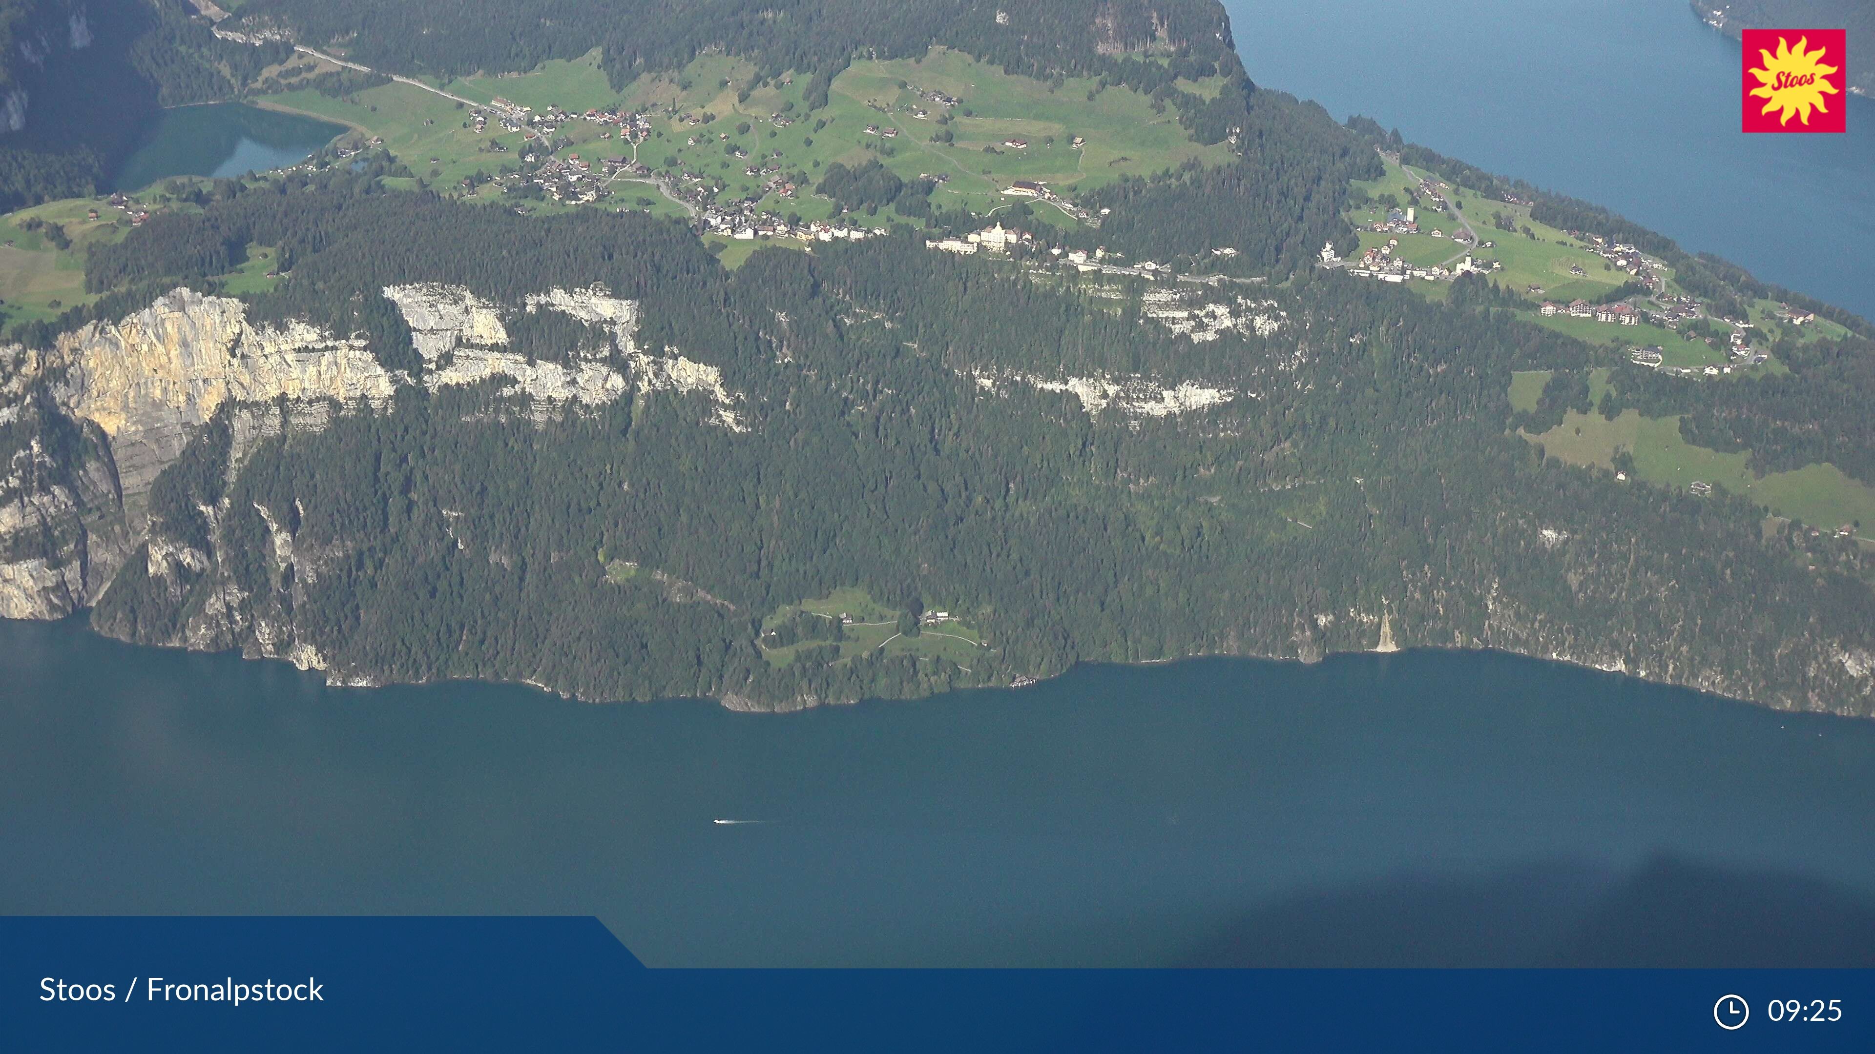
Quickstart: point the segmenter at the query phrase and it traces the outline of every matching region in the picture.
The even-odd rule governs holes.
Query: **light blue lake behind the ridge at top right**
[[[1607,204],[1875,317],[1875,99],[1746,135],[1738,41],[1684,0],[1224,0],[1258,84]]]

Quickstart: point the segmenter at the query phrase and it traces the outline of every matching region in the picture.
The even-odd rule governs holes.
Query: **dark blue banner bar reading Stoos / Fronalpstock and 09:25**
[[[0,919],[9,1050],[1875,1050],[1875,970],[645,970],[596,919]]]

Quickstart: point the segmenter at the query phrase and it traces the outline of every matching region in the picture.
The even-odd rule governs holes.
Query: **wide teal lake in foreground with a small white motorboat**
[[[594,913],[662,966],[1869,964],[1871,816],[1875,722],[1498,653],[776,716],[0,621],[9,913]]]

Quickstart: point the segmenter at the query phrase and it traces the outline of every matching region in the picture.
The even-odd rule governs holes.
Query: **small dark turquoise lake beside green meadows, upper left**
[[[116,189],[169,176],[240,176],[304,161],[345,126],[246,103],[163,111],[148,141],[116,173]]]

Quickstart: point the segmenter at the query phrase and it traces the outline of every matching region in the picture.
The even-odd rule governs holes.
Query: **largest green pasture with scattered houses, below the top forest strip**
[[[1215,94],[1213,81],[1189,88]],[[806,88],[808,77],[786,75],[756,84],[754,68],[746,62],[709,54],[681,71],[639,77],[624,90],[613,90],[598,68],[596,51],[576,60],[546,62],[531,73],[459,77],[444,86],[482,103],[504,98],[536,113],[561,107],[576,114],[555,131],[557,139],[572,141],[561,150],[562,158],[632,156],[673,178],[701,178],[718,188],[716,199],[759,195],[761,210],[799,219],[840,214],[838,204],[814,195],[814,186],[836,161],[861,165],[876,158],[904,180],[945,174],[949,182],[932,195],[936,204],[988,212],[1014,204],[1003,195],[1014,180],[1046,182],[1061,193],[1074,193],[1187,159],[1230,159],[1224,144],[1194,143],[1178,124],[1176,107],[1153,113],[1153,101],[1131,88],[1099,90],[1091,79],[1069,79],[1056,88],[947,49],[934,49],[922,58],[855,62],[834,79],[827,105],[814,113],[806,109]],[[928,92],[943,92],[962,103],[945,107],[930,101]],[[339,99],[294,90],[266,96],[261,103],[379,135],[416,180],[450,193],[461,193],[465,176],[478,171],[497,174],[529,152],[523,133],[504,133],[491,124],[478,135],[465,128],[467,107],[411,84],[384,84]],[[652,133],[634,150],[611,128],[578,116],[587,109],[651,114]],[[926,116],[919,118],[917,111]],[[866,133],[868,126],[879,133]],[[896,135],[883,135],[887,129]],[[934,143],[939,131],[952,141]],[[1076,135],[1086,139],[1080,150],[1071,146]],[[1028,141],[1028,146],[1005,144],[1014,139]],[[506,152],[491,150],[491,143],[506,146]],[[758,174],[748,174],[750,167]],[[763,167],[774,171],[759,173]],[[795,191],[771,191],[767,184],[774,176],[793,182]],[[611,206],[622,204],[621,199],[636,203],[649,197],[617,184],[609,189]],[[482,193],[493,191],[484,188]],[[1072,223],[1065,214],[1050,214],[1046,204],[1028,206],[1037,221]],[[675,206],[652,210],[677,212]],[[894,219],[889,208],[853,218],[872,227]]]

